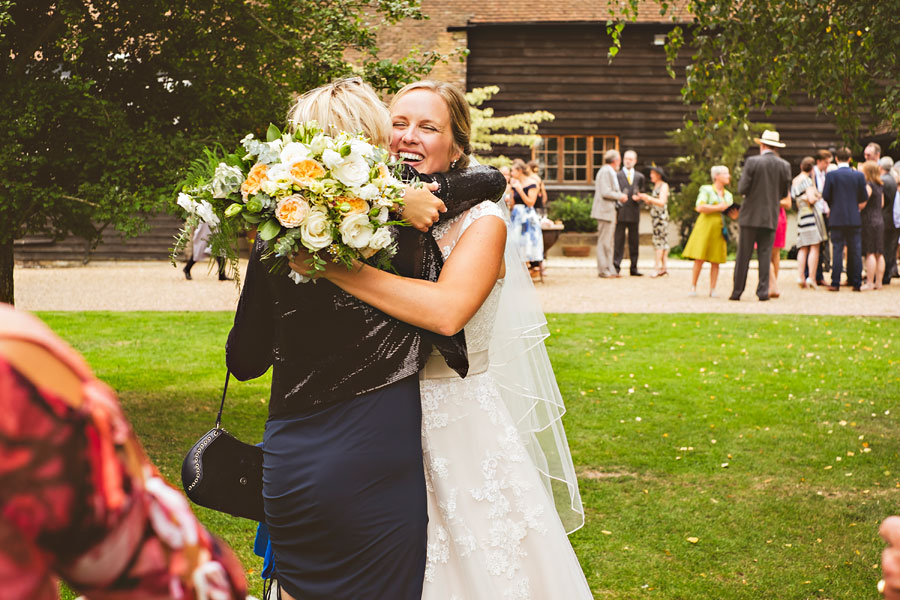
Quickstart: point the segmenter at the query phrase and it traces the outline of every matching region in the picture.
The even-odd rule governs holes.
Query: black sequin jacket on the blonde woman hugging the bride
[[[419,178],[440,184],[442,221],[506,189],[503,175],[484,166]],[[398,246],[393,264],[400,275],[437,280],[443,259],[431,233],[402,227]],[[258,240],[251,252],[226,363],[242,381],[273,367],[270,417],[319,410],[414,375],[432,346],[465,376],[463,332],[445,337],[398,321],[327,280],[298,285],[271,274],[260,261],[265,249]]]

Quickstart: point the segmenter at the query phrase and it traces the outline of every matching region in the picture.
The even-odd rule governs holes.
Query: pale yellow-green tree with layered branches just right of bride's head
[[[473,152],[489,153],[493,151],[494,146],[526,146],[530,148],[541,141],[541,136],[537,135],[537,124],[556,118],[546,110],[495,117],[493,108],[478,108],[499,92],[500,88],[492,85],[475,88],[466,94],[466,100],[469,102],[469,115],[472,118],[470,140]],[[478,161],[494,166],[508,165],[511,162],[503,155],[484,156],[481,154],[478,156]]]

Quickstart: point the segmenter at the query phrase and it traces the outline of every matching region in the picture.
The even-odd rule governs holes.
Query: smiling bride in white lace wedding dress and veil
[[[423,173],[466,162],[468,110],[439,82],[401,90],[391,150]],[[370,267],[325,277],[395,318],[438,333],[465,325],[465,379],[434,354],[421,372],[428,487],[426,600],[592,598],[567,538],[584,522],[546,322],[508,218],[482,203],[433,231],[436,283]],[[503,259],[504,247],[507,259]]]

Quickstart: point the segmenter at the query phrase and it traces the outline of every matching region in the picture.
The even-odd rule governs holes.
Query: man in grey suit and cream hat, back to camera
[[[775,154],[775,148],[784,148],[777,131],[766,130],[759,144],[759,156],[751,156],[744,163],[738,192],[744,196],[738,216],[738,255],[734,265],[734,288],[731,300],[740,300],[747,284],[750,256],[756,244],[759,261],[759,284],[756,296],[769,299],[769,265],[772,261],[772,245],[778,226],[778,206],[790,195],[791,165]]]

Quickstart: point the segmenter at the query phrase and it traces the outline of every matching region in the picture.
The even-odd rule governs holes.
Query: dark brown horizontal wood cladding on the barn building
[[[677,61],[672,79],[664,48],[653,45],[654,36],[669,29],[627,25],[622,49],[610,63],[605,25],[472,27],[467,87],[499,86],[500,93],[486,104],[498,116],[550,111],[556,120],[542,123],[541,134],[616,135],[620,149],[638,153],[639,165],[665,165],[677,154],[666,132],[681,127],[689,113],[681,99],[688,54]],[[796,101],[769,115],[752,115],[779,131],[788,145],[782,155],[795,170],[803,156],[839,142],[831,121],[808,98]],[[527,148],[503,153],[530,157]]]

